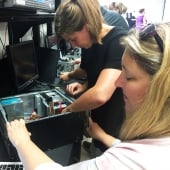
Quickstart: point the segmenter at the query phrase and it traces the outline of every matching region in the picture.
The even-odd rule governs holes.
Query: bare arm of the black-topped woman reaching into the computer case
[[[70,106],[72,112],[92,110],[105,104],[116,90],[116,82],[121,71],[114,69],[104,69],[96,84],[84,92]]]

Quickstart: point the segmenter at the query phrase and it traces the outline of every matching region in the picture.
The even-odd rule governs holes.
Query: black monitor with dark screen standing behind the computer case
[[[32,40],[7,46],[7,55],[17,91],[23,90],[39,77]]]

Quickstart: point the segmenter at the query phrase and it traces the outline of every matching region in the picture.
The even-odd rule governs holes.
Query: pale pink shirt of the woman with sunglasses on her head
[[[122,142],[103,155],[67,167],[41,164],[36,170],[166,170],[170,169],[170,137]]]

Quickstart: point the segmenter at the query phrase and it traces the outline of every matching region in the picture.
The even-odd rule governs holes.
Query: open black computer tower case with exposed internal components
[[[32,134],[31,139],[44,152],[71,144],[69,160],[63,164],[78,162],[84,131],[84,113],[61,113],[72,100],[58,89],[1,98],[0,132],[10,160],[16,161],[19,157],[8,140],[6,121],[23,118]]]

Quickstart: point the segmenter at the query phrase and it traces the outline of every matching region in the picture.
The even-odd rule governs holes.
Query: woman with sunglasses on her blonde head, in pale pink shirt
[[[109,149],[95,159],[63,167],[31,141],[23,120],[8,122],[9,139],[26,169],[170,169],[170,23],[131,29],[122,44],[126,48],[116,82],[126,109],[121,140],[90,119],[89,133]]]

